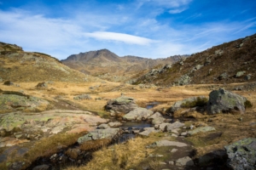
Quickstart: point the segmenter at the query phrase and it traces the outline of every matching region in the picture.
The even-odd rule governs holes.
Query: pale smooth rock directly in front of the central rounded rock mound
[[[153,113],[153,111],[138,107],[137,109],[130,111],[125,116],[123,116],[123,119],[127,121],[143,121],[148,119],[148,117],[153,115]]]

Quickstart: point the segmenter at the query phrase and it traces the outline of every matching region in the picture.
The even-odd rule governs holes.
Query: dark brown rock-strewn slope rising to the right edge
[[[149,71],[134,83],[172,86],[256,81],[256,34],[192,54],[174,65]]]

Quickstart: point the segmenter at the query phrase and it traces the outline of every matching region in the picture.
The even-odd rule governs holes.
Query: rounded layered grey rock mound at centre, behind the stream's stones
[[[115,114],[126,114],[137,108],[134,99],[126,96],[121,96],[117,99],[109,100],[105,105],[106,111],[113,111]]]

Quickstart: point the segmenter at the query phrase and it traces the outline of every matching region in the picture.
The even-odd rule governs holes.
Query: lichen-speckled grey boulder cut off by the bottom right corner
[[[241,139],[224,147],[229,156],[228,166],[234,170],[256,169],[256,139]]]

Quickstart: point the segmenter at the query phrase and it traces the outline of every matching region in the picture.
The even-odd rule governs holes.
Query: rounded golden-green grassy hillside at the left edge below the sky
[[[24,52],[17,45],[0,42],[0,80],[84,82],[92,79],[63,65],[48,54]]]

